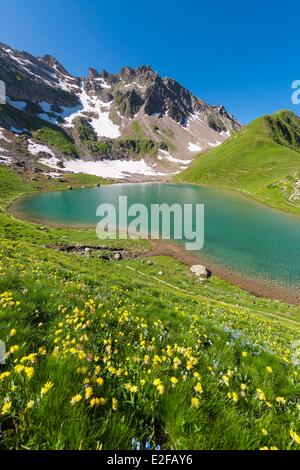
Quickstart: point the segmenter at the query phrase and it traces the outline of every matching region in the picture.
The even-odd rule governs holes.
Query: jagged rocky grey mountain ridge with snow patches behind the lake
[[[25,166],[39,153],[51,156],[55,169],[74,158],[142,160],[161,176],[186,168],[194,155],[240,128],[223,106],[208,105],[146,65],[119,74],[91,68],[78,78],[50,55],[0,44],[0,80],[7,89],[0,127],[7,140],[23,135]],[[16,155],[15,149],[11,158]]]

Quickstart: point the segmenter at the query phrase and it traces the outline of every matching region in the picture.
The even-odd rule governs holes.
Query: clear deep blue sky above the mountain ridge
[[[300,114],[299,0],[0,0],[0,21],[1,42],[75,75],[149,64],[243,123]]]

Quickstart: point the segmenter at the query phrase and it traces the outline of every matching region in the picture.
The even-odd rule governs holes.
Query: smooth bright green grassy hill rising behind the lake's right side
[[[238,189],[299,213],[300,119],[290,111],[256,119],[175,179]]]

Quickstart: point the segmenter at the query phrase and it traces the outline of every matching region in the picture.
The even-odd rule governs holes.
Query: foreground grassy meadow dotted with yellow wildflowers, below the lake
[[[120,262],[46,248],[100,241],[11,219],[28,186],[1,169],[0,447],[299,448],[298,308],[148,263],[142,241],[109,242]]]

